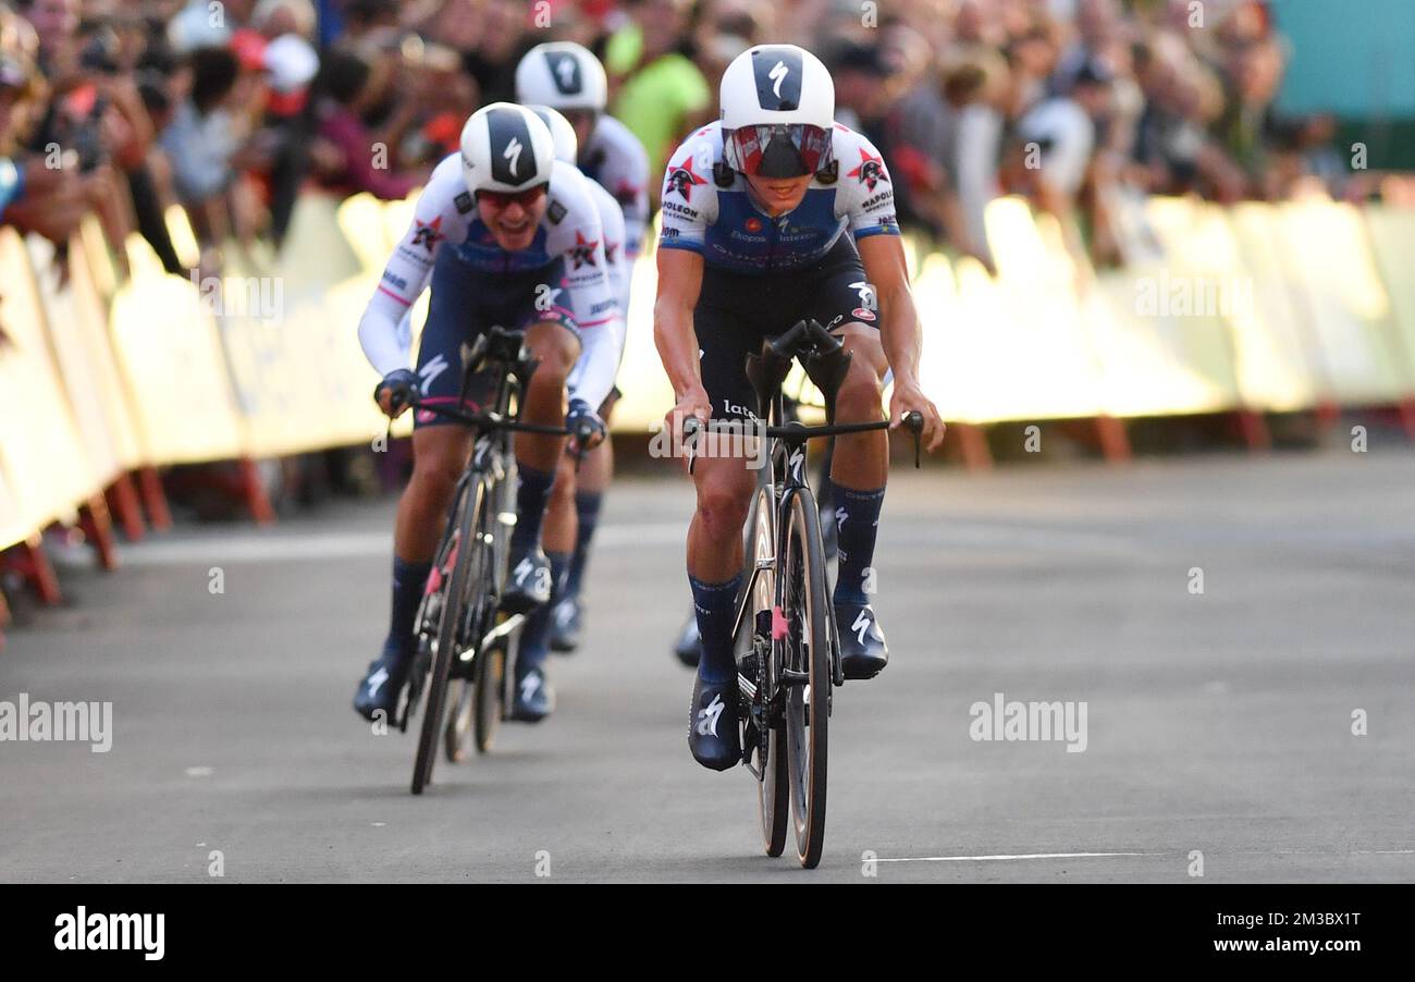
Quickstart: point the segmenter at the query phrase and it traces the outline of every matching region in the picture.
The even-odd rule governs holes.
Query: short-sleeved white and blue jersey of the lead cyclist
[[[668,158],[661,249],[689,249],[739,273],[819,262],[846,228],[855,239],[899,235],[889,168],[869,140],[835,125],[833,180],[812,177],[794,209],[771,218],[747,194],[747,178],[722,164],[722,123],[693,133]],[[724,178],[717,183],[717,175]]]

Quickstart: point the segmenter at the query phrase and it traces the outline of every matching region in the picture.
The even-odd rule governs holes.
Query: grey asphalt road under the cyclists
[[[0,880],[1415,880],[1415,454],[897,473],[893,661],[838,693],[825,857],[760,852],[754,785],[688,754],[678,480],[616,485],[559,710],[408,792],[350,709],[392,501],[187,526],[64,570],[0,700],[113,705],[112,749],[0,743]],[[221,567],[221,594],[208,590]],[[1203,573],[1203,593],[1193,593]],[[1085,749],[971,706],[1075,702]],[[1364,710],[1367,733],[1353,734]]]

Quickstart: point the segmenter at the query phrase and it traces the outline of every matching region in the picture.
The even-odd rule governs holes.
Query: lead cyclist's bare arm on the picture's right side
[[[908,289],[903,242],[897,235],[870,235],[859,239],[856,246],[865,265],[865,279],[874,286],[880,308],[880,342],[894,371],[890,423],[899,426],[904,413],[910,410],[923,413],[924,446],[935,450],[944,441],[944,423],[918,382],[923,331],[918,327],[914,294]]]

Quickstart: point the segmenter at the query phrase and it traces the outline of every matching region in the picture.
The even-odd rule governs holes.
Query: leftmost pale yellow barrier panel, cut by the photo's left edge
[[[76,507],[102,488],[83,443],[45,335],[44,308],[25,245],[0,228],[0,470],[7,478],[13,533],[72,521]]]

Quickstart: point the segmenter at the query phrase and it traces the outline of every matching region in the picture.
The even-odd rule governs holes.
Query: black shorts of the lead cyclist
[[[693,330],[713,419],[756,417],[747,355],[761,352],[764,337],[812,317],[832,331],[852,321],[879,330],[874,290],[849,232],[804,269],[751,275],[703,266]]]

